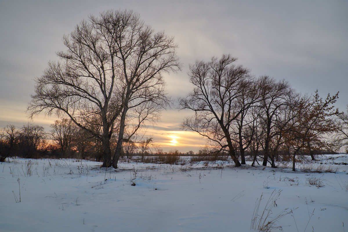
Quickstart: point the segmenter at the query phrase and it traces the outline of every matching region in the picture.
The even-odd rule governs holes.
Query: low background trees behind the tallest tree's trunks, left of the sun
[[[116,150],[117,137],[110,139],[111,151]],[[124,142],[121,156],[148,155],[158,148],[153,138],[141,138],[139,142]],[[160,149],[158,149],[160,150]],[[159,152],[163,153],[163,152]],[[46,132],[43,127],[27,123],[21,128],[8,125],[0,130],[0,162],[8,157],[23,158],[79,158],[101,161],[101,139],[77,127],[72,120],[56,120]]]

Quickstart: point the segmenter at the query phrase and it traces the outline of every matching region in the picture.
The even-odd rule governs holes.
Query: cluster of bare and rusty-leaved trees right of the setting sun
[[[271,167],[276,167],[282,154],[282,159],[293,161],[295,170],[296,157],[308,153],[314,159],[314,150],[333,148],[329,136],[337,131],[338,93],[324,100],[318,92],[302,95],[285,80],[254,77],[250,70],[235,65],[236,60],[222,55],[190,65],[195,88],[180,99],[181,109],[195,112],[182,127],[207,138],[210,153],[227,152],[240,166],[248,150],[254,162],[260,156],[262,165],[269,162]]]

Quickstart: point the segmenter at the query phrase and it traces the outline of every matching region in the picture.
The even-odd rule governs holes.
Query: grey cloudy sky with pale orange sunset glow
[[[64,34],[88,15],[132,9],[155,31],[174,36],[182,71],[166,75],[174,100],[193,89],[188,66],[196,60],[231,54],[255,76],[285,79],[301,93],[318,89],[325,98],[338,91],[337,107],[348,104],[348,1],[160,1],[0,0],[0,127],[27,123],[27,104]],[[149,126],[164,151],[197,152],[204,139],[180,129],[191,112],[172,108]],[[33,122],[49,130],[55,118]]]

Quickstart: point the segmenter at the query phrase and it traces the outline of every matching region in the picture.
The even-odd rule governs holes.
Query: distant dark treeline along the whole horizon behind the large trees
[[[87,159],[98,162],[103,161],[103,150],[101,141],[96,137],[89,135],[79,128],[73,126],[69,120],[57,120],[51,125],[52,130],[46,132],[43,127],[27,123],[21,128],[16,128],[13,125],[8,125],[3,128],[0,133],[0,162],[4,162],[6,158],[21,157],[28,159],[39,158],[74,158]],[[114,150],[115,144],[112,144]],[[169,152],[163,152],[159,146],[151,146],[144,148],[144,144],[124,142],[124,149],[121,155],[125,159],[134,159],[134,156],[142,157],[139,161],[149,161],[144,157],[172,157],[172,156],[192,156],[196,157],[193,160],[226,160],[229,158],[227,152],[210,152],[209,149],[201,149],[197,153],[193,151],[180,152],[173,149]],[[151,150],[154,149],[152,152]],[[334,151],[311,151],[314,155],[319,154],[334,154]],[[254,151],[245,151],[245,156],[253,159]],[[262,160],[264,152],[260,150],[255,161]],[[310,153],[302,152],[301,155],[310,155]],[[240,153],[237,152],[237,157]],[[150,159],[151,160],[151,159]],[[161,162],[174,163],[173,159],[159,159]],[[174,159],[176,160],[176,159]],[[290,161],[291,152],[280,150],[275,155],[276,161]]]

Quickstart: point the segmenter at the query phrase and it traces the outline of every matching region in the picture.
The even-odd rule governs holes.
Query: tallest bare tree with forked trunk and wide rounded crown
[[[103,166],[117,168],[128,111],[148,102],[165,106],[169,101],[163,73],[180,69],[177,45],[131,10],[91,15],[63,42],[67,50],[58,52],[60,61],[49,62],[36,79],[28,110],[31,116],[45,112],[69,117],[102,141]],[[88,126],[95,115],[102,133]],[[115,132],[118,142],[111,161],[110,138]]]

